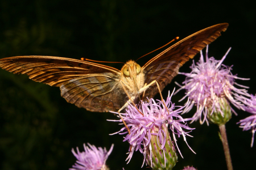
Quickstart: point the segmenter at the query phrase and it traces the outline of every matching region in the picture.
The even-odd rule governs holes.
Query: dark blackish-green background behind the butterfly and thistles
[[[221,59],[232,46],[224,64],[234,65],[233,74],[251,78],[237,82],[249,86],[249,93],[255,94],[255,17],[255,6],[246,1],[1,0],[0,58],[40,55],[126,62],[176,36],[183,39],[226,22],[229,28],[209,46],[209,56]],[[158,53],[160,50],[138,63],[142,66]],[[189,72],[191,63],[180,71]],[[121,69],[122,64],[110,66]],[[183,80],[184,76],[176,76],[163,95],[173,90],[175,81]],[[183,104],[177,102],[182,95],[183,91],[173,98],[176,105]],[[236,124],[250,114],[237,113],[226,124],[233,167],[253,169],[256,146],[250,148],[251,133]],[[192,113],[184,116],[191,117]],[[112,113],[87,112],[67,103],[57,87],[0,70],[0,168],[68,169],[75,163],[71,148],[79,146],[81,151],[82,143],[89,142],[108,150],[114,143],[107,161],[110,169],[141,169],[142,154],[136,152],[126,164],[128,143],[122,142],[122,135],[108,135],[121,128],[106,121],[115,118]],[[226,169],[218,127],[199,122],[189,126],[196,128],[191,133],[194,137],[187,141],[197,154],[179,138],[184,159],[179,156],[174,169],[185,165],[199,170]]]

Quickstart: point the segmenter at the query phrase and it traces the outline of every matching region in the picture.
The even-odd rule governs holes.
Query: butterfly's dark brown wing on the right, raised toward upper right
[[[145,83],[149,84],[156,80],[162,91],[164,87],[179,73],[179,68],[193,58],[200,50],[202,50],[210,42],[214,41],[221,35],[221,31],[226,31],[228,23],[213,25],[199,32],[193,33],[191,36],[177,42],[170,48],[164,50],[154,58],[150,59],[143,67],[145,74]],[[144,100],[154,97],[158,94],[156,84],[150,86],[144,95]]]

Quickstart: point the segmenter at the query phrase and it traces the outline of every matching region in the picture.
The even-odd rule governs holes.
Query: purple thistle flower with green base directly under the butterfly
[[[189,135],[188,133],[195,128],[189,128],[187,126],[187,123],[185,121],[189,121],[192,118],[182,118],[179,115],[179,113],[183,112],[182,109],[184,107],[175,106],[174,103],[171,103],[171,96],[169,92],[167,100],[164,101],[166,103],[169,113],[167,112],[166,107],[164,107],[162,101],[158,100],[158,102],[156,103],[154,99],[150,99],[149,103],[142,102],[141,105],[138,105],[139,111],[142,112],[144,115],[139,113],[137,108],[131,104],[127,107],[126,113],[121,113],[123,120],[125,120],[127,126],[130,129],[130,134],[127,134],[128,131],[126,127],[123,127],[121,130],[117,131],[114,134],[126,134],[126,137],[123,141],[128,141],[131,145],[131,150],[129,149],[129,156],[126,159],[128,160],[127,163],[130,162],[134,151],[139,150],[144,155],[144,161],[146,160],[147,164],[151,165],[151,167],[152,162],[153,164],[160,163],[162,167],[166,167],[167,165],[170,165],[171,168],[174,167],[177,160],[176,151],[174,149],[174,146],[172,145],[170,133],[168,132],[167,128],[171,129],[175,143],[177,141],[175,134],[178,137],[183,136],[184,141],[187,143],[185,136],[188,135],[191,137],[191,135]],[[118,114],[116,112],[113,113]],[[122,122],[121,119],[109,121]],[[183,129],[189,131],[184,131]],[[125,132],[122,132],[124,130]],[[191,149],[191,147],[189,148]],[[179,150],[178,147],[177,149]],[[159,150],[161,150],[160,157],[164,157],[163,162],[160,162],[160,160],[156,158],[156,155],[154,155],[155,151],[159,152]],[[170,159],[172,159],[172,163],[170,163]]]

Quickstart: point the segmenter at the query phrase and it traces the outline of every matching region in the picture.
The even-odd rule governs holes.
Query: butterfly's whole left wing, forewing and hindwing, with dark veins
[[[49,56],[3,58],[0,67],[60,87],[61,96],[69,103],[92,112],[118,111],[125,104],[126,95],[119,83],[121,71],[113,67]]]

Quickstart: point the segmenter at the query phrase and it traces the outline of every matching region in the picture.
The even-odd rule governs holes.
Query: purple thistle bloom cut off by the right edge
[[[253,134],[251,137],[251,147],[253,147],[254,133],[256,130],[256,94],[255,96],[251,95],[250,99],[243,97],[243,103],[245,104],[243,107],[245,111],[252,113],[252,115],[240,120],[237,124],[240,124],[240,128],[243,128],[243,131],[251,130],[251,133]]]

